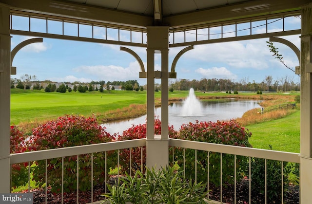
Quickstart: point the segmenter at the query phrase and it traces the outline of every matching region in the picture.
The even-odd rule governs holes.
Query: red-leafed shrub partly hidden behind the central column
[[[169,137],[174,138],[176,137],[177,131],[171,125],[168,127],[169,129]],[[155,134],[161,134],[161,121],[159,120],[158,116],[155,116],[154,120],[154,130]],[[146,138],[146,123],[140,125],[132,125],[131,128],[128,130],[124,130],[122,135],[119,135],[118,141],[123,140],[132,140],[132,139],[141,139]],[[135,172],[137,169],[141,167],[141,148],[143,152],[142,156],[142,165],[143,165],[143,172],[145,172],[146,166],[146,147],[138,147],[138,148],[131,148],[131,167],[132,171]],[[129,172],[130,168],[130,150],[129,149],[122,149],[119,153],[120,165],[122,171]]]

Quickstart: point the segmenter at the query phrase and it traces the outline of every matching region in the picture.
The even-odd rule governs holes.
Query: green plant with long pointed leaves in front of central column
[[[147,169],[144,175],[138,170],[134,177],[126,173],[120,180],[121,185],[108,186],[111,193],[104,194],[112,204],[206,204],[206,184],[192,183],[174,167]]]

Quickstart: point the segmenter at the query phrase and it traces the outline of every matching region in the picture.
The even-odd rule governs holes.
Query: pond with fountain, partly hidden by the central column
[[[182,124],[198,121],[229,120],[241,117],[244,112],[261,108],[258,100],[241,100],[241,99],[222,99],[211,101],[192,101],[190,96],[183,102],[172,103],[169,105],[169,124],[173,125],[175,130],[179,130]],[[260,111],[260,110],[259,110]],[[155,109],[155,115],[161,119],[161,108]],[[102,124],[111,134],[132,127],[132,124],[144,124],[146,115],[130,120],[111,122]]]

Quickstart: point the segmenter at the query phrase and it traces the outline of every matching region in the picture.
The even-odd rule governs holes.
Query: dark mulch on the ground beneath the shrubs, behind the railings
[[[115,182],[109,181],[109,184]],[[210,185],[209,199],[220,201],[220,187]],[[96,185],[93,189],[93,201],[103,200],[105,197],[101,196],[104,193],[104,185]],[[45,189],[31,190],[34,193],[34,204],[45,203]],[[63,196],[64,204],[76,204],[77,192],[66,193]],[[227,204],[234,204],[234,185],[227,185],[222,190],[222,202]],[[61,194],[53,194],[48,188],[47,203],[60,204]],[[79,192],[79,204],[91,203],[91,191]],[[252,204],[264,204],[264,195],[252,192]],[[281,201],[269,201],[268,204],[280,204]],[[284,194],[285,204],[299,204],[299,186],[289,185],[288,191]],[[236,185],[236,204],[249,204],[249,182],[243,179],[240,184]]]

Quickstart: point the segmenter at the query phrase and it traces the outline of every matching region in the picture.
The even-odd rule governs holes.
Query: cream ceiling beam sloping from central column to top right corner
[[[223,7],[166,16],[163,17],[163,23],[169,25],[170,29],[176,29],[221,21],[260,17],[269,14],[279,14],[292,11],[300,12],[300,6],[309,3],[310,1],[311,0],[251,0]]]

